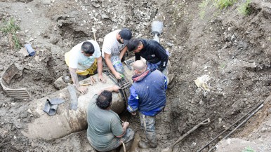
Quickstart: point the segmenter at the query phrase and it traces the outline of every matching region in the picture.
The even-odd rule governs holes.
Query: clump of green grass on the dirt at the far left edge
[[[20,27],[15,24],[13,18],[8,21],[4,21],[4,25],[0,27],[0,31],[4,34],[8,34],[10,37],[10,41],[12,41],[11,46],[15,49],[20,49],[22,46],[20,45],[20,41],[17,36],[17,32],[20,30]]]

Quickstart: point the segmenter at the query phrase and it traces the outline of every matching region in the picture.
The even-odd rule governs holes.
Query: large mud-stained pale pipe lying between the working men
[[[131,81],[132,71],[124,65],[124,74],[129,81]],[[35,118],[31,123],[27,124],[27,132],[22,131],[26,137],[31,139],[58,139],[64,137],[72,132],[78,132],[86,129],[86,111],[88,107],[88,102],[91,100],[93,95],[98,93],[104,88],[114,85],[109,76],[103,74],[107,82],[101,83],[97,82],[94,85],[88,85],[88,92],[85,95],[80,95],[78,97],[78,108],[76,111],[70,110],[70,95],[67,88],[54,92],[48,97],[41,99],[34,99],[31,104],[30,109],[34,109],[35,113],[39,116]],[[98,76],[95,75],[94,78],[98,80]],[[126,92],[128,88],[126,89]],[[65,102],[58,105],[58,111],[54,116],[48,116],[42,109],[44,109],[44,104],[46,99],[62,98]],[[126,104],[121,96],[121,93],[114,92],[112,97],[112,110],[116,113],[121,113],[126,109]]]

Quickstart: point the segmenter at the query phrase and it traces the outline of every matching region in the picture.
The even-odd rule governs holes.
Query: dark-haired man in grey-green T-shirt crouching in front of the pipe
[[[97,151],[111,151],[122,143],[126,143],[126,150],[131,148],[135,132],[128,127],[128,122],[121,123],[117,113],[110,109],[112,91],[119,89],[117,85],[106,88],[100,95],[94,95],[88,104],[87,138]]]

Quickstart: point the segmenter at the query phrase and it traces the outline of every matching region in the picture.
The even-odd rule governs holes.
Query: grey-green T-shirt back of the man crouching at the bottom
[[[116,144],[119,146],[120,138],[116,136],[123,134],[123,129],[117,113],[100,109],[96,105],[97,97],[98,95],[95,95],[88,104],[87,136],[90,138],[93,148],[98,151],[109,151]]]

